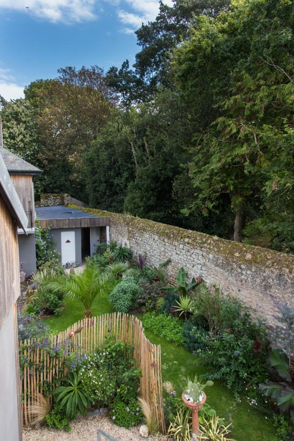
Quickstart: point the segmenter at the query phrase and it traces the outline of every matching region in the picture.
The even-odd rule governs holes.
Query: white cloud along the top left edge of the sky
[[[81,22],[95,18],[95,0],[0,0],[0,9],[24,12],[57,22]]]

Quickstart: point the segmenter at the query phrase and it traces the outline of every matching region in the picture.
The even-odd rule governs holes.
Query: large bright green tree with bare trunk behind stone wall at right
[[[285,176],[282,164],[287,174],[280,185],[288,195],[292,191],[292,19],[290,3],[237,4],[215,21],[200,18],[190,40],[175,50],[176,82],[193,117],[204,111],[203,93],[211,109],[206,126],[194,137],[193,205],[215,210],[220,195],[227,194],[238,241],[244,207],[258,191],[266,198],[272,172]]]

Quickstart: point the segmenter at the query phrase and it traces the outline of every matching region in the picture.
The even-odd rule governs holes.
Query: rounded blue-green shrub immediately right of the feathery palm
[[[140,291],[135,279],[123,278],[109,294],[109,301],[113,304],[114,311],[127,313],[131,305],[136,304]]]

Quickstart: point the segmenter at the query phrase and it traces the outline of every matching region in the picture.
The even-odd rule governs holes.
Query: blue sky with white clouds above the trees
[[[165,0],[172,4],[172,0]],[[134,31],[156,18],[158,0],[0,0],[0,95],[55,78],[65,66],[108,70],[135,61]]]

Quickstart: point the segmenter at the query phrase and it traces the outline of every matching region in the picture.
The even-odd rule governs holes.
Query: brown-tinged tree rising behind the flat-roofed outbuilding
[[[81,158],[108,122],[116,96],[98,66],[66,67],[54,80],[38,80],[25,89],[36,111],[43,146],[38,161],[44,169],[45,192],[68,192],[85,197]]]

